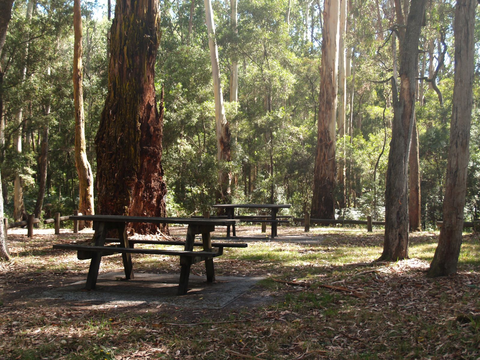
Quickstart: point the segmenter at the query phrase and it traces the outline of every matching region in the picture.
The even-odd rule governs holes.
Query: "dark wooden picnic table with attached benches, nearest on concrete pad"
[[[133,279],[132,253],[173,255],[180,256],[180,280],[178,295],[184,295],[188,290],[188,279],[190,276],[190,267],[198,262],[205,262],[205,273],[207,282],[215,281],[215,270],[213,258],[223,254],[225,247],[245,248],[246,243],[212,243],[210,233],[215,230],[215,226],[235,225],[235,219],[203,219],[203,218],[180,218],[180,217],[149,217],[149,216],[114,216],[114,215],[83,215],[70,216],[73,220],[93,221],[95,230],[95,245],[75,245],[75,244],[55,244],[54,249],[76,250],[77,257],[80,260],[91,259],[90,268],[86,280],[85,289],[93,290],[96,287],[96,280],[100,268],[100,261],[103,256],[122,254],[123,267],[125,269],[125,278]],[[129,240],[127,237],[128,223],[152,223],[152,224],[186,224],[187,236],[185,241],[168,240]],[[119,239],[107,238],[110,230],[117,230]],[[194,242],[195,235],[202,235],[202,242]],[[108,245],[108,243],[118,242],[119,244]],[[141,244],[167,244],[184,245],[183,251],[159,250],[134,248],[135,243]],[[202,246],[203,251],[193,251],[193,247]]]

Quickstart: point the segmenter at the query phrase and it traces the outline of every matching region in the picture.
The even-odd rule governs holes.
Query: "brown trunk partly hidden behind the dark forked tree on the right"
[[[419,134],[417,120],[413,120],[412,144],[408,159],[408,229],[420,231],[421,202],[420,202],[420,159]]]

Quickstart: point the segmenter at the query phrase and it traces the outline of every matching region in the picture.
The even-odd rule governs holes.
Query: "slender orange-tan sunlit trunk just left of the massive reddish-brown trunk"
[[[78,210],[84,215],[95,214],[93,205],[93,174],[87,159],[85,144],[84,90],[82,69],[82,14],[80,0],[73,1],[73,103],[75,106],[75,167],[78,174]],[[90,221],[80,221],[78,228],[91,227]]]

